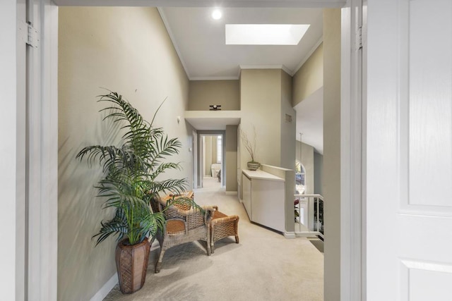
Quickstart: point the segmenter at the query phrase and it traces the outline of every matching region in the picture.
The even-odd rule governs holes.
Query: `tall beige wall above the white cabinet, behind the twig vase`
[[[244,69],[240,77],[241,129],[252,139],[256,128],[255,160],[280,165],[281,149],[281,72],[280,69]],[[271,147],[269,147],[271,146]],[[241,146],[241,166],[251,160]]]

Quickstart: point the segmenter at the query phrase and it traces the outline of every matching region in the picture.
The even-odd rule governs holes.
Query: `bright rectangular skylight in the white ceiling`
[[[226,24],[227,45],[297,45],[309,24]]]

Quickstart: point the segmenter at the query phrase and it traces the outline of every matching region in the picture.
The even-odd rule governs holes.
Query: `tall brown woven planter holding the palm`
[[[124,245],[124,242],[116,247],[116,267],[121,293],[131,294],[141,289],[146,280],[150,245],[148,239],[136,245]]]

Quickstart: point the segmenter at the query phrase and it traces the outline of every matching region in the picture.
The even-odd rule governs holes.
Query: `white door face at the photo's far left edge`
[[[18,69],[23,64],[16,65],[16,62],[22,59],[16,45],[16,35],[18,34],[16,16],[18,8],[18,3],[14,0],[1,2],[0,89],[4,100],[2,100],[2,109],[0,111],[0,152],[2,157],[0,160],[0,188],[2,195],[1,226],[4,231],[1,231],[0,238],[1,241],[8,245],[8,247],[4,247],[0,251],[2,259],[0,290],[2,292],[1,297],[4,300],[18,300],[16,299],[16,290],[23,287],[23,283],[16,283],[16,281],[23,281],[24,268],[23,260],[18,258],[23,255],[22,251],[20,251],[21,245],[18,245],[18,243],[21,243],[18,240],[23,239],[23,235],[16,233],[16,231],[23,230],[18,223],[21,223],[25,216],[18,208],[18,203],[23,200],[23,197],[18,193],[21,192],[21,187],[18,187],[18,185],[21,184],[22,174],[16,169],[16,166],[20,165],[19,162],[23,161],[23,158],[20,158],[17,152],[17,142],[20,138],[23,138],[20,137],[17,124],[20,121],[20,118],[18,118],[20,106],[18,104],[22,101],[19,90],[25,87],[25,80],[18,78],[21,75]],[[16,260],[18,259],[20,262],[16,265]]]

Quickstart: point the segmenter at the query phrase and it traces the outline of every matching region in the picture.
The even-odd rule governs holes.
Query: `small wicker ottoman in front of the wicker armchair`
[[[212,253],[215,251],[213,244],[222,238],[234,235],[235,242],[239,243],[239,216],[227,216],[218,211],[218,207],[214,206],[214,208],[215,211],[210,221],[210,249]]]

